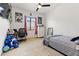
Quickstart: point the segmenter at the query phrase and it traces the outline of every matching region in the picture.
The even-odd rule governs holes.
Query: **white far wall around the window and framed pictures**
[[[23,13],[23,22],[22,23],[15,22],[15,12]],[[12,6],[12,23],[11,23],[11,29],[17,29],[18,30],[19,28],[24,28],[24,15],[29,16],[29,14],[30,14],[30,11],[28,11],[28,10]],[[45,24],[45,22],[44,22],[45,19],[44,19],[44,16],[42,14],[33,13],[32,15],[34,17],[38,17],[38,16],[43,17],[43,24]],[[35,34],[34,31],[35,30],[28,31],[28,36],[29,37],[33,36]]]

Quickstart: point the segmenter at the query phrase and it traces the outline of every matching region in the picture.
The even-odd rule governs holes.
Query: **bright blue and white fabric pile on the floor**
[[[3,52],[9,51],[13,48],[18,48],[19,42],[17,41],[17,38],[14,35],[8,35],[5,39],[4,46],[3,46]]]

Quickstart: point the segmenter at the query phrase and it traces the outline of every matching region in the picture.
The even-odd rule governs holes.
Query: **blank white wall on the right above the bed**
[[[46,15],[46,26],[54,28],[54,34],[79,36],[79,4],[61,4]]]

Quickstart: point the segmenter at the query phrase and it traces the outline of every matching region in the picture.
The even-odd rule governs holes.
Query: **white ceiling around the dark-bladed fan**
[[[40,8],[37,13],[45,14],[50,11],[50,9],[54,8],[57,4],[56,3],[41,3],[41,4],[50,4],[50,7],[42,7]],[[31,12],[36,12],[38,3],[12,3],[12,6],[15,6],[17,8],[29,10]]]

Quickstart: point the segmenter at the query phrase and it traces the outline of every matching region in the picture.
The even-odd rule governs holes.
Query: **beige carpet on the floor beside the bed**
[[[28,39],[20,43],[19,48],[3,53],[3,56],[63,56],[59,52],[44,46],[43,38]]]

